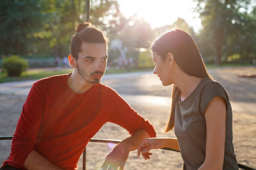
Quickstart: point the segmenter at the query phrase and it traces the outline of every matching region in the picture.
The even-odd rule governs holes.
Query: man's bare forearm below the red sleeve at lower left
[[[28,170],[61,170],[35,150],[28,154],[24,167]]]

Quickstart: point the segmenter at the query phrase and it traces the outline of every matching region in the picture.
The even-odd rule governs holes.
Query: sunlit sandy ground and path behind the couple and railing
[[[211,69],[209,72],[225,87],[230,97],[233,107],[233,144],[237,160],[239,163],[256,167],[256,78],[238,77],[241,74],[255,74],[256,67],[218,68]],[[141,76],[139,81],[144,82],[147,78],[147,75]],[[161,129],[169,117],[171,87],[162,87],[160,86],[161,83],[157,84],[157,86],[153,85],[155,80],[157,78],[151,81],[153,83],[148,85],[148,88],[133,88],[133,82],[131,82],[130,88],[122,84],[127,84],[126,82],[118,83],[116,81],[104,80],[103,83],[116,89],[139,114],[148,119],[154,125],[157,137],[175,138],[173,131],[161,133]],[[126,81],[129,80],[126,79]],[[134,85],[136,86],[136,84]],[[137,100],[134,100],[135,95]],[[156,96],[161,96],[159,97],[159,102],[162,103],[160,107],[157,102],[150,101],[151,98],[155,99],[154,97]],[[147,99],[138,102],[143,97]],[[0,94],[0,136],[12,135],[14,133],[25,100],[26,96]],[[94,136],[94,138],[118,140],[123,140],[127,137],[127,131],[113,123],[106,123]],[[10,144],[10,140],[0,141],[0,163],[8,157]],[[105,156],[110,150],[111,145],[89,143],[86,155],[87,169],[100,169],[100,165],[104,162]],[[136,151],[131,152],[125,164],[125,169],[181,169],[182,158],[180,153],[166,150],[153,150],[152,152],[151,160],[147,161],[142,157],[138,158]],[[82,170],[82,157],[79,160],[78,169]]]

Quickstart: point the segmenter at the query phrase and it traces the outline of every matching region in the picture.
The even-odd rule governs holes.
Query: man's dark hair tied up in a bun
[[[75,30],[76,32],[71,38],[70,52],[76,60],[78,59],[78,53],[82,52],[82,42],[95,44],[102,43],[108,48],[109,40],[107,35],[105,35],[102,30],[97,28],[95,25],[84,22],[83,24],[78,24]]]

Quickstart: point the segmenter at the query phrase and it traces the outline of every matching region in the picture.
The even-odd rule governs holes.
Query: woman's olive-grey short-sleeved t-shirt
[[[232,109],[228,94],[220,83],[205,77],[196,89],[175,105],[174,133],[184,160],[183,170],[197,170],[205,161],[206,122],[205,107],[210,100],[220,96],[226,103],[225,154],[223,170],[238,170],[233,147]],[[219,123],[219,122],[216,122]]]

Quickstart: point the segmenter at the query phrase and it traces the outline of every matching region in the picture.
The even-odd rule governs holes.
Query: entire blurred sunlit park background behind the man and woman
[[[106,73],[121,75],[103,78],[102,83],[117,90],[146,117],[158,137],[174,138],[173,132],[161,133],[169,115],[172,88],[162,87],[156,76],[145,71],[154,68],[149,47],[156,35],[174,26],[185,30],[197,42],[210,74],[230,96],[238,162],[256,167],[255,6],[256,0],[92,0],[90,22],[105,30],[110,39]],[[85,19],[86,0],[1,0],[0,82],[71,72],[66,60],[70,39],[74,27]],[[19,76],[8,76],[2,65],[8,62],[22,63]],[[10,69],[18,67],[13,64]],[[130,77],[121,74],[138,71],[144,72],[129,73]],[[0,88],[7,86],[0,83]],[[25,100],[26,95],[0,91],[1,136],[14,133]],[[122,140],[127,135],[126,130],[107,123],[95,137]],[[99,169],[110,149],[106,144],[89,143],[87,167]],[[1,141],[0,150],[2,163],[10,152],[10,141]],[[154,166],[180,169],[182,158],[179,153],[157,150],[152,160],[145,162],[131,153],[125,168]]]

